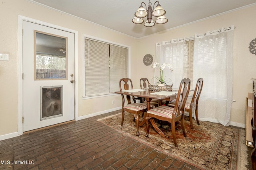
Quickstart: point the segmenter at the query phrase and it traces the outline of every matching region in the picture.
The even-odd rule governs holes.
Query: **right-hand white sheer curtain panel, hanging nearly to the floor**
[[[230,125],[233,86],[234,26],[196,34],[194,80],[204,78],[198,102],[199,120]]]

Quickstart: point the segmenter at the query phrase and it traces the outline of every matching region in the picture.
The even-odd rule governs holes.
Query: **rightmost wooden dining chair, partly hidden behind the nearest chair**
[[[194,113],[194,111],[196,115],[196,122],[198,125],[200,125],[198,120],[198,100],[202,92],[203,84],[204,84],[204,79],[198,78],[191,102],[186,102],[185,104],[185,111],[189,113],[190,127],[192,130],[194,130],[193,121],[192,121],[192,113]],[[174,107],[174,105],[175,105],[174,102],[168,104],[168,106],[171,106],[171,107]]]

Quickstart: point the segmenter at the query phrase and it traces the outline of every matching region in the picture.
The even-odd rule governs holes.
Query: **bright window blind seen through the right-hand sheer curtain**
[[[194,70],[208,80],[204,81],[204,97],[227,99],[227,37],[212,37],[198,41]]]

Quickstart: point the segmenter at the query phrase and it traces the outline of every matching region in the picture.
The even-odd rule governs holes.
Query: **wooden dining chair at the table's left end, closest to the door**
[[[122,87],[122,84],[124,85]],[[131,88],[129,88],[129,84],[131,85]],[[120,91],[122,90],[130,90],[133,89],[133,85],[132,85],[132,80],[130,78],[122,78],[119,81],[119,88]],[[144,113],[147,111],[147,104],[144,103],[135,103],[134,100],[134,96],[132,96],[132,101],[134,103],[132,103],[131,101],[131,97],[129,95],[126,95],[126,99],[127,99],[127,105],[124,106],[125,103],[125,99],[124,99],[124,95],[121,94],[122,96],[122,122],[121,122],[121,126],[123,126],[124,123],[124,111],[127,111],[129,113],[133,113],[134,114],[134,118],[136,120],[136,126],[137,126],[137,136],[140,135],[139,133],[139,120],[140,120],[140,113]],[[153,105],[150,105],[150,108],[153,108]]]

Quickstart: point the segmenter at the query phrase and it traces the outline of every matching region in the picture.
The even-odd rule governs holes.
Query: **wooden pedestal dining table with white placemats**
[[[178,94],[178,89],[172,89],[172,91],[152,91],[149,89],[130,89],[130,90],[122,90],[115,92],[116,94],[124,94],[129,96],[137,96],[140,98],[144,98],[147,101],[147,110],[150,109],[150,101],[152,99],[158,99],[160,100],[160,105],[162,105],[162,100],[165,100],[166,102],[172,101],[176,99],[176,96]],[[142,122],[140,122],[139,126],[142,126],[144,123],[146,123],[146,116],[144,116],[144,119]],[[154,119],[150,119],[150,122],[154,129],[162,135],[165,136],[165,134],[158,128],[156,125]]]

